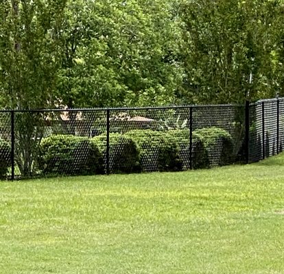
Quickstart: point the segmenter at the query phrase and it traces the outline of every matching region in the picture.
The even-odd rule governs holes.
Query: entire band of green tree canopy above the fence
[[[281,0],[3,0],[0,107],[284,95]]]

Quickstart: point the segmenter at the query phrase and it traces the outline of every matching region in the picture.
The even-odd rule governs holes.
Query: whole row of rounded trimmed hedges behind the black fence
[[[110,134],[109,168],[112,173],[180,171],[189,169],[189,132],[135,129]],[[230,134],[217,127],[193,132],[193,169],[233,162]],[[49,136],[40,144],[38,168],[45,174],[93,175],[106,171],[106,136],[93,138]]]

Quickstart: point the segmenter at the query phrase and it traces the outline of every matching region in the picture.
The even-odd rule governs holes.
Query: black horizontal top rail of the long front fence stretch
[[[160,107],[137,107],[137,108],[54,108],[38,110],[0,110],[1,112],[93,112],[93,111],[127,111],[127,110],[178,110],[187,108],[233,108],[244,107],[241,104],[222,105],[173,105]]]

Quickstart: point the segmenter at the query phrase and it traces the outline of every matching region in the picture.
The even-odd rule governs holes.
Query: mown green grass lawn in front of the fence
[[[284,155],[0,182],[0,273],[284,273]]]

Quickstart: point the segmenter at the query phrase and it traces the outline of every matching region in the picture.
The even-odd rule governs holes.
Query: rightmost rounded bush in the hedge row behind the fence
[[[206,127],[196,129],[193,133],[204,143],[208,151],[210,166],[224,166],[234,162],[234,144],[226,130],[219,127]]]

